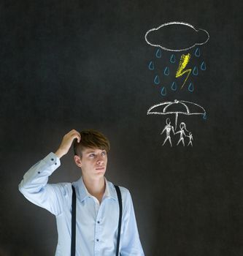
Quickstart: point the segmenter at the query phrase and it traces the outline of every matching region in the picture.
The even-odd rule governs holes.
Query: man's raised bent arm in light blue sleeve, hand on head
[[[63,157],[72,146],[72,141],[80,142],[80,133],[72,130],[64,135],[61,145],[54,153],[50,153],[33,165],[23,176],[19,184],[20,192],[31,203],[46,208],[52,214],[58,215],[63,211],[63,198],[61,195],[70,193],[67,184],[47,184],[49,176],[61,165],[60,158]]]

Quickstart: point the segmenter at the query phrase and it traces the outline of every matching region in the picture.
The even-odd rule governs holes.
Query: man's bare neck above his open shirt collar
[[[85,176],[82,176],[82,180],[85,184],[86,189],[90,193],[90,195],[93,195],[94,197],[96,197],[101,203],[102,197],[104,195],[105,187],[106,187],[104,177],[97,178],[97,179],[90,179],[90,178],[86,178]]]

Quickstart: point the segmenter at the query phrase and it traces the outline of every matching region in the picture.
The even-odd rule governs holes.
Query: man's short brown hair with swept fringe
[[[109,152],[109,140],[101,133],[94,129],[85,129],[80,132],[80,143],[74,140],[74,154],[82,157],[82,151],[85,148],[99,148]]]

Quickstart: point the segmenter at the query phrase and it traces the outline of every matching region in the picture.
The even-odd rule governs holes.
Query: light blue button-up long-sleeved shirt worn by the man
[[[58,245],[55,256],[71,254],[72,184],[47,184],[48,177],[61,165],[50,153],[31,167],[19,184],[20,192],[32,203],[56,217]],[[114,185],[107,181],[101,204],[88,193],[82,177],[73,182],[77,194],[76,256],[115,256],[119,204]],[[136,226],[134,206],[128,189],[120,187],[123,201],[120,255],[143,256]]]

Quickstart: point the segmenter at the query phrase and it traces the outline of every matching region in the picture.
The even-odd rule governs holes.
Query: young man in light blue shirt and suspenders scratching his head
[[[60,159],[74,141],[74,161],[82,170],[78,181],[47,184],[48,177],[60,166]],[[120,206],[118,192],[107,181],[109,140],[100,132],[72,130],[64,135],[55,154],[50,153],[31,167],[19,184],[20,192],[32,203],[46,208],[56,217],[58,245],[55,256],[71,255],[72,241],[72,185],[76,202],[76,256],[117,255]],[[142,256],[131,195],[120,187],[122,220],[120,226],[120,255]],[[74,218],[73,218],[74,219]],[[73,244],[72,244],[73,246]]]

